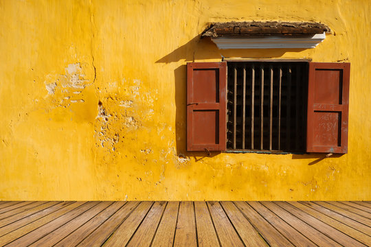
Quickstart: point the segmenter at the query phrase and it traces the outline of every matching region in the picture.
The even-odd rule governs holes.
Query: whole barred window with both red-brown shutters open
[[[349,63],[190,62],[187,150],[346,153]]]

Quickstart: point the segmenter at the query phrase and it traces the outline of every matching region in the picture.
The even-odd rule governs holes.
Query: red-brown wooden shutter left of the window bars
[[[187,150],[225,150],[227,63],[187,64]]]

